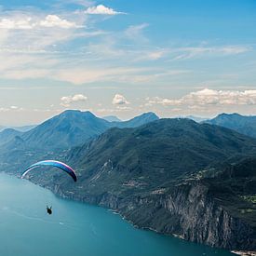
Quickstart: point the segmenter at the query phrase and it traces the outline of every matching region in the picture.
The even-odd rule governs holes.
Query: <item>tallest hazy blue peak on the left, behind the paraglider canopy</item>
[[[31,147],[65,149],[83,143],[108,128],[109,122],[90,112],[68,110],[25,132],[21,139]]]

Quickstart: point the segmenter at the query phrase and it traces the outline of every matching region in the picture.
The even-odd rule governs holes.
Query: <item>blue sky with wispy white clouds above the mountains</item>
[[[0,126],[66,109],[256,115],[255,0],[4,0]]]

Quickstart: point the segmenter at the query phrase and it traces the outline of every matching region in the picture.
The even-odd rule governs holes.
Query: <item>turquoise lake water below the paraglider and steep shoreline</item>
[[[233,255],[136,229],[107,209],[60,199],[7,174],[0,174],[0,241],[5,256]]]

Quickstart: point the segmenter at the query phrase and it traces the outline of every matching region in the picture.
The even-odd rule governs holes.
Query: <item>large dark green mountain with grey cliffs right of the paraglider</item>
[[[160,119],[139,128],[111,128],[70,150],[63,159],[75,168],[76,183],[61,172],[28,178],[63,197],[114,209],[141,228],[225,249],[256,249],[255,219],[241,216],[251,214],[251,205],[240,209],[256,179],[242,171],[247,163],[237,183],[229,172],[255,155],[256,140],[234,130]],[[256,173],[255,165],[249,173]]]

